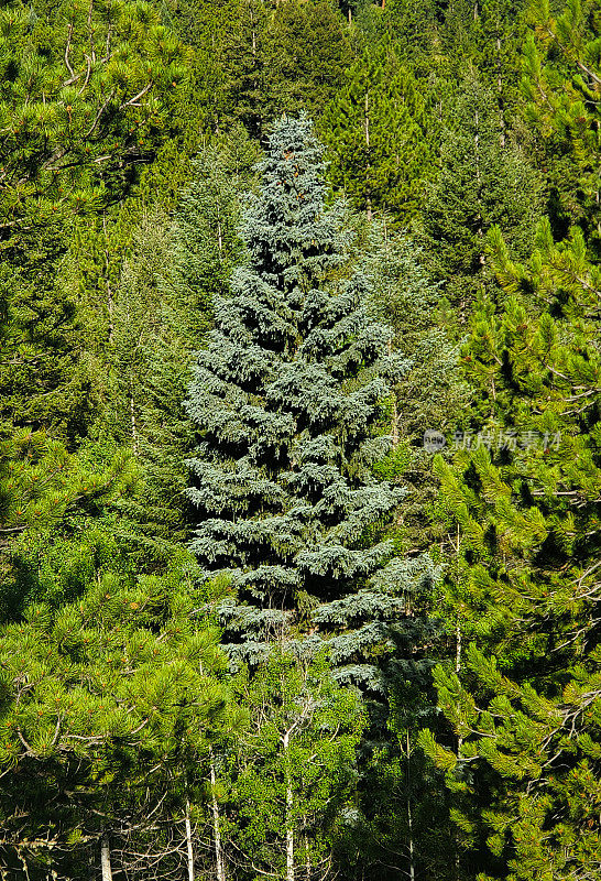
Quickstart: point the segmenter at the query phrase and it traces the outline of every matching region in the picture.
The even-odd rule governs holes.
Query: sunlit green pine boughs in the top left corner
[[[4,249],[56,213],[119,197],[165,122],[167,84],[185,76],[147,3],[64,2],[52,15],[21,2],[2,11]]]

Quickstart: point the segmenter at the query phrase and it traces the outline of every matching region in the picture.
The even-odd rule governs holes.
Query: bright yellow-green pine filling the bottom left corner
[[[238,714],[194,562],[124,578],[119,554],[83,595],[2,627],[2,870],[42,881],[181,872],[195,775]],[[189,783],[194,785],[190,786]],[[26,818],[24,820],[24,818]],[[142,859],[141,859],[142,857]],[[154,869],[153,869],[154,871]],[[106,875],[105,875],[106,877]]]

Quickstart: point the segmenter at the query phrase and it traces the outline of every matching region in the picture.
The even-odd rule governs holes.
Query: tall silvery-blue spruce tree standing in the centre
[[[370,314],[345,206],[326,208],[306,117],[276,124],[259,171],[248,260],[216,300],[187,402],[199,432],[193,550],[207,575],[231,578],[233,659],[261,663],[273,640],[310,651],[327,635],[339,677],[378,688],[376,657],[406,641],[407,595],[433,576],[395,556],[386,526],[403,490],[371,467],[392,443],[378,426],[404,359]]]

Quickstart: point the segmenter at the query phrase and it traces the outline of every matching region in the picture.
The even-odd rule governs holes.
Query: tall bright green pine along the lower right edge
[[[473,443],[437,465],[458,640],[436,684],[458,740],[423,742],[449,773],[468,848],[490,851],[482,878],[594,877],[599,270],[579,230],[556,244],[548,221],[525,265],[498,229],[491,242],[507,302],[481,304],[465,352]]]

